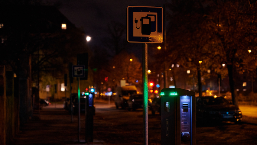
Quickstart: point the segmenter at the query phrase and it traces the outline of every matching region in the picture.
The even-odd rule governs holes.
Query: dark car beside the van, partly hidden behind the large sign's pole
[[[128,103],[128,110],[130,111],[131,109],[135,111],[138,108],[143,108],[143,95],[142,94],[136,94],[136,95],[131,95],[129,97],[129,100],[127,101]],[[148,99],[148,106],[151,105],[151,100]]]

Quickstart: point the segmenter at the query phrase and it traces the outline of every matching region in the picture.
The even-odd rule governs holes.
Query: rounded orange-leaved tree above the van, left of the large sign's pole
[[[102,82],[102,88],[115,89],[120,85],[120,80],[125,79],[126,83],[136,85],[138,90],[142,90],[142,64],[134,54],[121,52],[115,55],[107,66],[98,71]],[[105,77],[108,81],[104,81]],[[106,91],[106,90],[102,90]]]

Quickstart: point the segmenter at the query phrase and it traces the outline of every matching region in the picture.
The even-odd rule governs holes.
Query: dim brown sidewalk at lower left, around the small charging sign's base
[[[106,103],[104,103],[106,104]],[[108,105],[108,101],[107,101]],[[78,142],[78,116],[63,109],[62,104],[52,104],[35,110],[31,120],[20,127],[13,145],[107,145],[94,132],[93,143],[85,143],[85,115],[81,114],[80,142]]]

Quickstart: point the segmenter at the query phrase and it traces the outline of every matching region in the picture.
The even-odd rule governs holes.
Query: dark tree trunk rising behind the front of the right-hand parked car
[[[233,105],[237,105],[236,102],[236,93],[235,93],[235,81],[234,81],[234,75],[233,75],[233,63],[227,65],[228,72],[229,72],[229,85],[230,85],[230,92],[232,96],[232,102]]]

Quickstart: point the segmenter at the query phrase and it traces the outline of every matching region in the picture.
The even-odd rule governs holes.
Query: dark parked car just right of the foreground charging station
[[[232,105],[220,96],[196,97],[196,120],[203,123],[208,121],[240,122],[242,112],[238,106]]]

